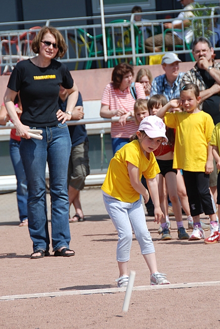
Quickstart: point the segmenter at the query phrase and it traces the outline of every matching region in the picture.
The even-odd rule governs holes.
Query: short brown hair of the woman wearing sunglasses
[[[65,43],[64,37],[61,34],[61,32],[58,31],[53,26],[43,26],[39,30],[39,32],[37,33],[37,35],[34,37],[34,39],[32,41],[32,44],[31,44],[32,51],[35,54],[39,54],[40,42],[41,42],[43,36],[46,33],[48,33],[48,32],[51,33],[55,37],[55,39],[56,39],[56,43],[57,43],[57,47],[58,47],[58,52],[57,52],[57,55],[55,56],[55,58],[58,58],[58,57],[62,58],[66,54],[67,45]]]

